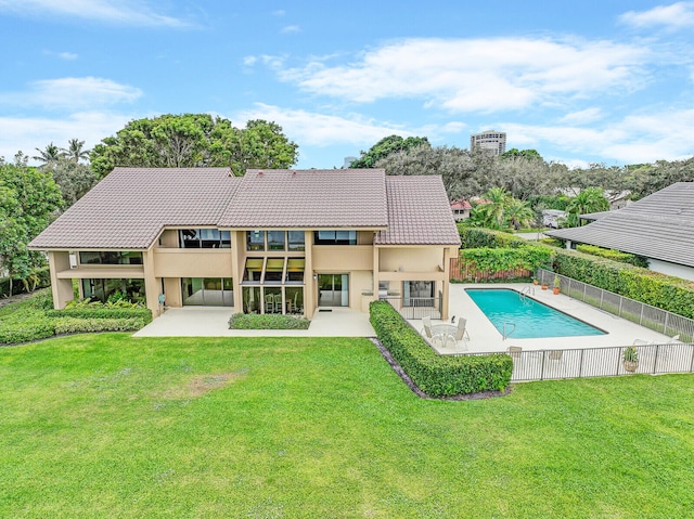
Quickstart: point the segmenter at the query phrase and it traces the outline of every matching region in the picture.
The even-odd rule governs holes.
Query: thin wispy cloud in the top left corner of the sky
[[[157,13],[133,0],[0,0],[0,12],[21,16],[69,16],[118,25],[190,27],[174,16]]]

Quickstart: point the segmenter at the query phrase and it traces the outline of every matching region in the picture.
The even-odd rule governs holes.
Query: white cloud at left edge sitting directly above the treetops
[[[7,160],[18,152],[29,157],[35,148],[43,148],[50,142],[67,146],[69,139],[85,141],[92,148],[102,139],[115,134],[133,117],[107,112],[82,112],[66,118],[0,117],[0,156]]]

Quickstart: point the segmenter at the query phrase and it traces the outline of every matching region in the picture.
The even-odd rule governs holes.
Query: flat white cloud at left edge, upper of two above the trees
[[[140,89],[120,85],[111,79],[94,77],[42,79],[31,82],[26,92],[0,94],[0,105],[80,111],[117,103],[131,103],[141,95]]]

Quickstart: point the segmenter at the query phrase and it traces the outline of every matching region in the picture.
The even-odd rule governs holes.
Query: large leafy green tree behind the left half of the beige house
[[[274,122],[253,120],[237,129],[208,114],[167,114],[128,122],[94,146],[90,157],[98,178],[116,166],[228,166],[243,174],[246,167],[288,168],[297,160],[297,147]]]

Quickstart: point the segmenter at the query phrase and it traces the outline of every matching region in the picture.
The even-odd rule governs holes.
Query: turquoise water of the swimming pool
[[[602,329],[583,323],[566,313],[554,310],[529,297],[522,297],[507,288],[466,288],[465,293],[479,310],[503,333],[504,323],[515,323],[516,329],[509,337],[539,339],[544,337],[577,337],[605,335]],[[506,330],[512,326],[506,325]]]

